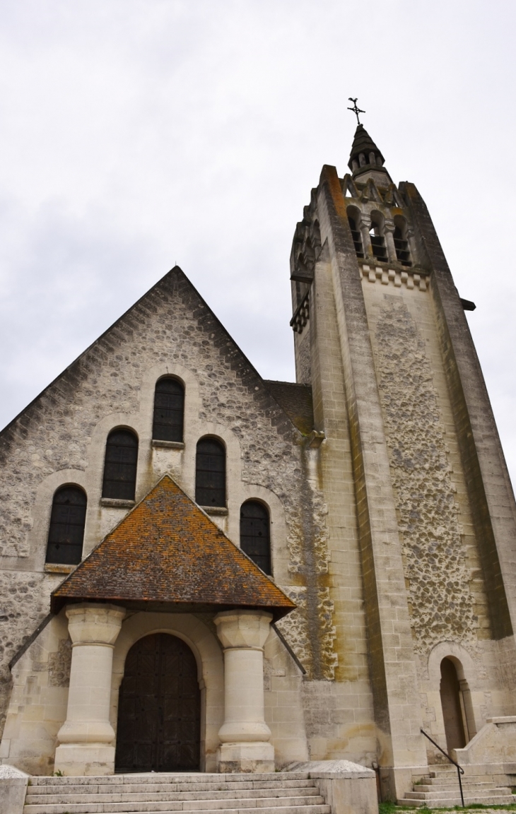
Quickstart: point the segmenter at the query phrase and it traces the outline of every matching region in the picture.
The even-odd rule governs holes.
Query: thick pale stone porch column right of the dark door
[[[274,771],[274,747],[264,714],[264,645],[272,620],[260,610],[226,610],[215,617],[224,646],[220,772]]]

